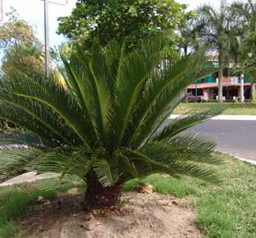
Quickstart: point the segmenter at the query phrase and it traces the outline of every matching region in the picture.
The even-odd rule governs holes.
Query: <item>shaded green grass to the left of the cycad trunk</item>
[[[73,187],[85,189],[83,182],[70,176],[62,181],[57,178],[44,179],[0,188],[0,237],[10,238],[14,237],[14,234],[26,237],[25,231],[14,221],[23,214],[26,207],[34,205],[39,196],[51,199],[56,197],[57,193],[65,192]]]

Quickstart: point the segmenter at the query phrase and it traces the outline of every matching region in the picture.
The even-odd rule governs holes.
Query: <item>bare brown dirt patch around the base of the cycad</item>
[[[122,205],[84,212],[81,195],[38,202],[20,223],[29,238],[200,238],[185,199],[156,193],[124,193]]]

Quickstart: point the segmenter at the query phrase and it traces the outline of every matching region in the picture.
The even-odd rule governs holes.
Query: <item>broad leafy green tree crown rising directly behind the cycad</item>
[[[174,40],[177,24],[183,25],[190,14],[185,5],[174,0],[79,0],[70,17],[59,18],[57,33],[71,41],[126,41],[134,48],[142,39],[165,32]]]

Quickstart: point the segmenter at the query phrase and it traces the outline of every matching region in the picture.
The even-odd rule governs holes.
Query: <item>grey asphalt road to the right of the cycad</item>
[[[256,161],[256,121],[210,120],[187,131],[214,139],[217,151]]]

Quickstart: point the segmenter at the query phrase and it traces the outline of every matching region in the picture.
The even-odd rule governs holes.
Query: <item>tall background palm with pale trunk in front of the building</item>
[[[211,52],[218,53],[218,101],[222,102],[222,78],[223,66],[230,61],[230,52],[237,45],[237,32],[234,32],[234,24],[230,7],[222,0],[220,11],[211,5],[204,4],[198,10],[198,24],[204,23],[199,32],[202,42]]]

